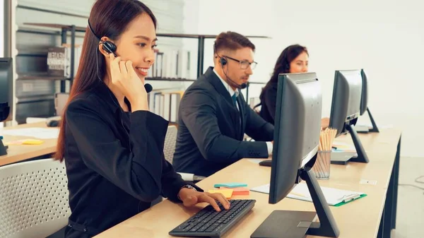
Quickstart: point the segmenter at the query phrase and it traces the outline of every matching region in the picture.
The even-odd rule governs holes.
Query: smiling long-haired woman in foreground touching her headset
[[[61,121],[55,158],[65,162],[71,216],[65,237],[92,237],[165,196],[184,206],[216,201],[165,160],[168,121],[148,111],[143,86],[154,62],[156,18],[138,0],[98,0]]]

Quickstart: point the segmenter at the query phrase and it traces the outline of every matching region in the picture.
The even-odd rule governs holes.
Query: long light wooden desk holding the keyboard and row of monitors
[[[390,231],[391,228],[394,228],[392,219],[393,216],[396,217],[396,214],[393,214],[396,204],[388,203],[386,196],[389,194],[389,190],[393,190],[389,187],[389,181],[393,184],[392,168],[395,164],[395,157],[399,161],[399,156],[396,156],[396,148],[399,149],[400,136],[401,132],[396,129],[382,130],[381,133],[360,134],[370,162],[367,164],[351,162],[348,165],[331,165],[330,179],[319,180],[321,186],[362,191],[368,195],[344,206],[330,206],[331,213],[333,213],[341,232],[340,237],[368,238],[377,237],[377,235],[382,237],[380,233],[384,231],[382,224],[386,219],[390,219],[385,223],[385,226],[389,227],[387,230]],[[350,136],[343,136],[338,140],[351,143]],[[399,150],[397,152],[399,155]],[[219,182],[245,182],[249,187],[259,186],[269,183],[270,172],[270,167],[260,167],[250,160],[240,160],[204,179],[198,185],[205,190],[212,189],[213,184]],[[375,180],[377,184],[360,184],[361,179]],[[391,196],[394,195],[393,191],[390,193]],[[245,218],[225,234],[225,237],[250,237],[273,210],[314,211],[312,203],[291,198],[284,198],[279,203],[271,205],[268,203],[267,194],[252,191],[250,196],[233,196],[233,198],[254,198],[257,203]],[[184,208],[181,204],[165,200],[102,232],[97,237],[170,237],[168,235],[170,230],[197,211],[199,208]],[[387,213],[387,216],[384,216],[383,211]]]

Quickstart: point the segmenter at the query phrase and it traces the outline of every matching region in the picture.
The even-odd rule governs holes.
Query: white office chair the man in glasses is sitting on
[[[172,165],[172,160],[175,153],[175,143],[177,143],[177,126],[168,126],[166,136],[165,136],[165,145],[163,146],[163,153],[165,154],[165,160],[170,162]],[[181,175],[184,181],[200,181],[204,177],[196,176],[194,174],[178,172]]]

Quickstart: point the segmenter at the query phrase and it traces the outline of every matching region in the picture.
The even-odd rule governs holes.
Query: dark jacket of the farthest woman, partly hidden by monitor
[[[274,124],[276,119],[277,105],[277,83],[266,85],[261,94],[261,117],[271,124]]]

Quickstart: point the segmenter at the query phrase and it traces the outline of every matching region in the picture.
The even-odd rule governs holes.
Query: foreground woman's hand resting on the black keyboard
[[[220,208],[216,203],[216,200],[218,200],[225,209],[230,209],[230,202],[223,196],[223,194],[209,194],[206,192],[199,192],[194,189],[182,188],[179,190],[178,196],[186,207],[194,206],[197,203],[209,203],[219,212]]]

